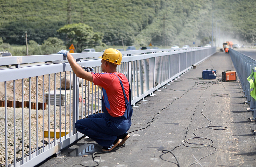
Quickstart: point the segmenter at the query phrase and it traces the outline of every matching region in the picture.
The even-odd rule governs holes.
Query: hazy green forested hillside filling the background
[[[71,8],[68,7],[68,1]],[[5,43],[42,44],[68,23],[84,23],[103,33],[110,45],[197,45],[212,35],[216,21],[221,35],[256,41],[255,0],[0,0],[0,36]],[[68,20],[68,11],[70,20]]]

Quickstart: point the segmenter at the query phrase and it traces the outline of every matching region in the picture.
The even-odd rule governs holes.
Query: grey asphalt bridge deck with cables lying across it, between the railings
[[[175,146],[181,145],[185,138],[196,137],[193,135],[195,129],[197,130],[194,133],[200,138],[191,139],[188,142],[210,145],[213,141],[213,144],[198,147],[202,145],[185,143],[189,147],[184,145],[177,147],[172,153],[179,161],[179,166],[189,166],[196,162],[195,158],[199,160],[201,157],[214,153],[215,148],[217,151],[214,154],[199,161],[202,166],[256,166],[256,141],[251,132],[256,130],[256,124],[248,122],[248,117],[252,117],[252,112],[246,112],[249,106],[244,104],[246,99],[242,97],[244,93],[241,93],[241,85],[239,82],[223,82],[210,84],[211,86],[206,89],[200,88],[205,85],[199,84],[200,87],[198,87],[198,82],[215,81],[195,79],[202,77],[202,71],[207,68],[216,69],[217,76],[221,76],[222,71],[234,70],[229,55],[216,53],[199,64],[196,69],[170,82],[170,85],[165,85],[167,89],[161,88],[161,91],[155,91],[155,96],[148,96],[145,98],[147,101],[136,104],[139,107],[133,107],[132,126],[129,132],[138,131],[130,133],[131,137],[127,140],[125,147],[107,154],[100,154],[99,166],[175,167],[177,165],[174,163],[177,161],[174,156],[169,152],[164,154],[162,150],[172,150]],[[212,94],[230,96],[214,97]],[[212,122],[210,126],[221,127],[208,128],[210,122],[202,113]],[[154,117],[154,114],[157,115]],[[153,117],[154,121],[150,123],[150,126],[139,130],[146,127],[147,122],[152,121]],[[96,163],[91,155],[99,151],[101,151],[101,146],[90,139],[82,138],[73,146],[62,150],[59,157],[48,158],[38,166],[62,167],[76,163],[94,166]],[[75,167],[79,166],[81,165],[75,165]],[[197,163],[191,166],[200,165]]]

